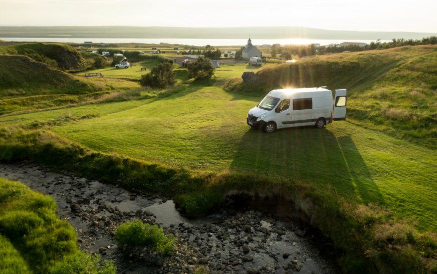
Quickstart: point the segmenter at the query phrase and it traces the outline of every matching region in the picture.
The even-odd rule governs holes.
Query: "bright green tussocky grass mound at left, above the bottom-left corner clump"
[[[49,196],[0,178],[0,234],[6,236],[35,272],[77,252],[76,232],[56,217],[56,203]]]

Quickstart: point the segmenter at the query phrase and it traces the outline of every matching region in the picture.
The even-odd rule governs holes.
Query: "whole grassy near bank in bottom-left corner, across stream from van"
[[[76,264],[101,267],[98,260],[81,255],[74,228],[56,217],[56,203],[49,196],[0,178],[0,209],[2,273],[62,272],[60,267],[75,268],[69,260],[77,256],[84,260]],[[111,263],[105,267],[108,273],[114,272]]]

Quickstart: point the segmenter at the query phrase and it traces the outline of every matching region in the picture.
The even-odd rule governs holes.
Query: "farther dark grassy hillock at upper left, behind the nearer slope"
[[[32,43],[0,48],[0,54],[26,55],[62,70],[77,70],[86,67],[82,55],[73,47],[64,44]]]

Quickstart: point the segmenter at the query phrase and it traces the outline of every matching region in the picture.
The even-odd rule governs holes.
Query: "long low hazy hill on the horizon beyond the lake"
[[[177,27],[0,27],[0,37],[26,38],[205,38],[205,39],[350,39],[391,40],[421,39],[436,33],[357,32],[322,30],[305,27],[237,27],[237,28],[177,28]]]

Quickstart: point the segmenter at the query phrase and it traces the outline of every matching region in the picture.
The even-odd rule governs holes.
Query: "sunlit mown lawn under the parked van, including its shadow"
[[[190,169],[255,172],[332,188],[348,199],[415,218],[419,229],[437,231],[435,151],[348,122],[334,122],[322,130],[254,131],[245,119],[257,101],[192,84],[167,98],[53,130],[107,153]],[[112,106],[118,104],[128,103]]]

